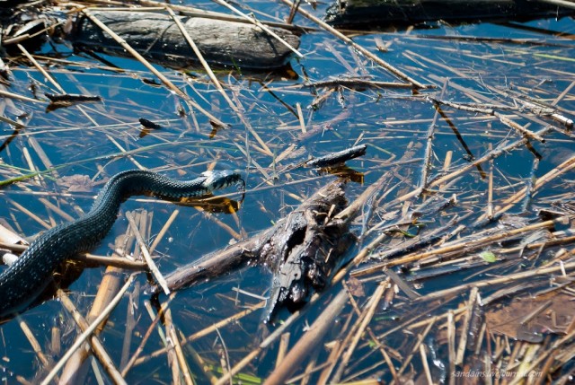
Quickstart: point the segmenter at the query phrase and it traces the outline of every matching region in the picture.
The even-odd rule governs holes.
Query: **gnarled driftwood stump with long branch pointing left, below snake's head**
[[[354,241],[349,218],[335,217],[347,206],[344,185],[341,179],[333,181],[269,230],[179,268],[166,276],[168,288],[178,290],[235,267],[261,264],[273,274],[266,319],[279,306],[301,307],[312,289],[329,282]]]

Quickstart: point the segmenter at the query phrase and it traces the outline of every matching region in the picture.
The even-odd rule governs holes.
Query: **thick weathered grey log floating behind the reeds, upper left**
[[[91,13],[148,60],[171,67],[198,64],[198,58],[180,29],[166,14],[131,11]],[[278,39],[252,24],[200,17],[180,16],[180,20],[209,63],[243,69],[272,69],[284,66],[291,54],[289,48]],[[299,47],[299,37],[296,34],[279,28],[272,30],[293,48]],[[74,31],[66,39],[71,40],[77,48],[127,56],[111,36],[85,16],[77,18]]]

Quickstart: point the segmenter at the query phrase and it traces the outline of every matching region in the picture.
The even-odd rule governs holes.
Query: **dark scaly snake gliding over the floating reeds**
[[[168,198],[199,197],[240,182],[241,175],[234,171],[208,171],[188,181],[139,170],[114,175],[87,214],[42,233],[0,274],[0,317],[26,309],[66,258],[93,249],[110,231],[127,197],[144,193]]]

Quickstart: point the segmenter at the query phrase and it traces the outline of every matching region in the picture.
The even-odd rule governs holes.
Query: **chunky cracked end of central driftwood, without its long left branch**
[[[262,245],[260,260],[273,273],[266,320],[281,306],[301,307],[312,289],[322,290],[341,267],[354,238],[349,222],[333,216],[346,206],[343,182],[335,181],[280,221]]]

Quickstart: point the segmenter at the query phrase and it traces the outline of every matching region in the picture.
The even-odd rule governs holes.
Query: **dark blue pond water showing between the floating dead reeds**
[[[195,5],[223,11],[215,4]],[[324,5],[321,4],[315,14],[321,16]],[[251,2],[246,6],[280,18],[288,13],[288,9],[279,4]],[[306,26],[313,25],[301,17],[296,18],[296,22]],[[527,22],[521,25],[540,30],[562,31],[566,34],[575,31],[575,24],[568,18],[559,21],[549,19]],[[537,39],[545,44],[439,40],[426,39],[420,35]],[[480,103],[489,101],[512,105],[509,96],[504,93],[512,90],[553,103],[575,80],[573,59],[575,50],[572,39],[555,37],[541,31],[491,23],[453,27],[440,25],[438,28],[428,30],[368,33],[356,36],[354,40],[372,52],[376,52],[377,41],[388,43],[387,52],[379,53],[380,57],[421,83],[437,87],[433,91],[422,92],[423,94],[429,93],[439,98],[442,87],[445,87],[445,92],[440,98],[448,101]],[[289,165],[302,162],[309,156],[339,151],[353,144],[368,144],[367,156],[349,162],[349,167],[365,173],[364,184],[350,183],[348,194],[350,198],[356,197],[385,171],[392,171],[393,180],[390,181],[388,188],[396,188],[396,191],[381,202],[383,207],[395,197],[419,185],[421,159],[429,126],[433,122],[436,130],[429,171],[431,178],[441,170],[447,152],[453,152],[451,168],[456,170],[468,164],[470,159],[468,152],[478,158],[488,151],[490,144],[492,147],[497,147],[505,141],[517,140],[519,137],[516,132],[492,117],[446,109],[447,117],[451,119],[456,127],[456,133],[460,136],[457,138],[454,129],[447,124],[447,121],[436,117],[436,110],[429,101],[425,101],[421,95],[414,95],[411,91],[402,89],[357,91],[342,88],[332,92],[323,103],[313,109],[311,104],[314,99],[328,90],[305,87],[306,82],[328,80],[333,77],[365,77],[385,82],[397,80],[324,31],[303,36],[299,50],[305,57],[292,59],[289,63],[297,75],[296,79],[279,78],[269,82],[264,75],[254,79],[248,74],[226,74],[226,71],[218,73],[220,81],[226,88],[233,90],[236,98],[241,101],[245,120],[270,149],[272,153],[270,155],[199,69],[194,69],[190,73],[199,78],[198,81],[192,79],[190,86],[186,84],[186,74],[160,68],[173,83],[188,92],[194,101],[230,125],[217,130],[215,136],[208,118],[197,112],[193,115],[187,107],[183,107],[187,115],[182,118],[177,112],[182,104],[177,96],[162,86],[157,87],[143,82],[142,79],[153,78],[153,75],[136,61],[106,57],[111,63],[125,70],[115,72],[102,68],[102,65],[92,58],[75,55],[64,45],[47,45],[43,48],[43,54],[55,56],[57,51],[70,61],[65,64],[53,63],[49,67],[50,74],[66,92],[100,95],[103,101],[85,104],[81,109],[66,108],[51,112],[46,112],[45,103],[15,101],[16,108],[28,113],[29,118],[26,120],[26,127],[14,136],[10,144],[0,153],[2,179],[20,176],[31,169],[24,156],[26,152],[30,153],[31,162],[36,169],[49,168],[49,165],[42,162],[39,153],[33,149],[33,144],[37,142],[52,165],[63,166],[57,170],[60,177],[85,175],[93,179],[96,185],[88,192],[70,192],[58,182],[56,174],[49,174],[56,179],[45,178],[41,181],[29,179],[4,187],[0,190],[3,207],[0,218],[3,224],[13,227],[14,231],[22,236],[30,236],[44,230],[40,223],[22,213],[13,202],[36,214],[40,220],[47,223],[47,226],[51,225],[50,217],[53,217],[54,223],[64,221],[41,203],[41,197],[49,199],[67,214],[77,216],[81,210],[85,212],[90,208],[93,196],[102,186],[99,183],[104,177],[135,168],[135,162],[146,169],[160,171],[180,179],[193,178],[208,167],[243,171],[248,189],[237,217],[230,214],[212,214],[211,218],[208,218],[191,206],[176,207],[147,198],[139,200],[134,198],[122,206],[122,214],[114,229],[102,244],[93,250],[93,254],[96,255],[111,255],[114,239],[126,232],[128,222],[123,215],[126,211],[145,208],[153,212],[149,232],[149,240],[153,241],[173,210],[177,208],[180,214],[165,234],[164,241],[161,241],[155,250],[160,269],[168,273],[210,251],[224,248],[237,241],[220,223],[224,223],[237,233],[247,236],[255,234],[278,222],[305,197],[334,178],[318,176],[316,171],[301,168],[286,171]],[[47,66],[50,64],[47,61],[42,63]],[[54,86],[33,67],[13,65],[12,70],[11,92],[30,97],[31,84],[35,85],[39,95],[42,92],[55,91]],[[266,84],[269,91],[263,84]],[[314,132],[314,135],[303,140],[300,140],[302,132],[299,120],[294,115],[296,103],[301,105],[307,129]],[[558,101],[557,106],[569,116],[575,107],[572,91]],[[6,115],[13,118],[17,113],[9,110]],[[140,137],[141,127],[137,122],[138,118],[153,120],[163,128]],[[529,123],[525,118],[517,118],[517,121],[522,125],[529,124],[527,127],[534,131],[543,127],[534,122]],[[545,122],[548,124],[550,121]],[[4,123],[0,129],[2,141],[7,140],[13,132]],[[557,132],[553,132],[546,139],[545,144],[533,143],[536,152],[542,156],[535,171],[536,176],[544,175],[571,157],[575,148],[571,137]],[[468,150],[464,149],[462,142]],[[275,162],[275,159],[291,144],[296,144],[296,151],[291,156]],[[534,159],[534,154],[526,147],[500,156],[494,162],[496,168],[494,199],[508,197],[525,186],[526,179],[529,179],[533,172]],[[482,170],[488,171],[489,166],[483,164]],[[553,183],[545,186],[538,193],[538,199],[541,199],[540,205],[556,199],[557,195],[564,192],[565,185],[572,187],[573,177],[575,175],[572,172],[567,173],[562,179],[555,179]],[[487,181],[482,178],[479,171],[465,173],[450,188],[451,193],[457,194],[460,204],[447,211],[447,214],[464,214],[469,210],[476,210],[481,214],[487,199],[486,188]],[[235,195],[232,198],[239,199],[239,196]],[[413,203],[417,204],[420,201],[415,200]],[[376,210],[373,223],[379,222],[385,214],[401,209],[401,205],[392,205],[388,209]],[[512,212],[521,213],[520,206]],[[527,216],[533,218],[535,214],[529,211]],[[427,219],[430,227],[445,222],[440,216]],[[352,226],[352,231],[358,233],[360,228],[361,221],[358,220]],[[370,239],[373,239],[373,236],[370,235]],[[357,250],[357,248],[350,249],[348,257],[353,257]],[[89,308],[102,274],[101,268],[86,269],[84,274],[70,285],[70,295],[82,311],[85,312]],[[144,275],[140,275],[138,280],[140,284],[146,284]],[[454,285],[454,282],[453,278],[448,276],[423,282],[417,290],[424,294],[450,285]],[[190,336],[242,311],[245,306],[261,301],[243,293],[238,294],[234,289],[266,296],[269,287],[270,274],[263,268],[252,267],[231,272],[228,276],[178,293],[171,305],[173,322],[183,336]],[[374,288],[373,282],[366,284],[367,293],[373,293]],[[324,298],[329,298],[329,293],[325,294]],[[143,301],[148,299],[149,295],[145,293],[139,296],[135,310],[137,327],[133,333],[131,351],[135,350],[151,322],[143,305]],[[358,301],[363,303],[365,298]],[[313,323],[325,304],[323,300],[305,309],[305,316],[288,329],[292,341],[302,334],[306,324]],[[418,305],[417,309],[425,312],[425,304]],[[349,311],[350,309],[346,308],[342,312],[341,319],[337,321],[340,322],[347,317]],[[111,321],[102,334],[104,345],[116,362],[119,362],[121,355],[126,312],[127,300],[124,300],[119,309],[112,314]],[[22,319],[28,322],[42,347],[48,346],[50,327],[55,314],[61,314],[60,317],[64,320],[62,325],[67,325],[66,331],[72,328],[69,326],[71,322],[69,316],[57,301],[45,302],[22,315]],[[394,315],[397,317],[392,317]],[[396,326],[399,320],[409,319],[410,316],[411,311],[406,311],[405,308],[398,311],[379,309],[371,327],[376,334],[383,333],[386,329]],[[287,317],[288,312],[280,313],[280,319]],[[232,365],[261,342],[265,328],[267,327],[261,325],[261,311],[254,311],[240,322],[220,329]],[[328,337],[337,337],[337,331],[334,328]],[[63,339],[65,347],[73,343],[73,336],[75,333],[66,334]],[[6,381],[15,381],[17,375],[22,375],[30,381],[38,379],[34,380],[35,375],[41,378],[42,365],[37,362],[15,320],[2,326],[2,337],[0,352],[6,359],[1,365],[5,368]],[[401,349],[403,338],[394,335],[390,337],[388,343]],[[143,355],[151,354],[162,346],[161,337],[154,332]],[[214,368],[221,367],[223,346],[217,334],[212,333],[208,337],[200,338],[191,346]],[[265,378],[275,364],[277,349],[276,343],[266,354],[261,354],[247,366],[243,373]],[[357,363],[354,363],[353,371],[360,372],[377,362],[370,359],[363,362],[359,359],[370,349],[366,345],[358,349],[358,356],[355,357]],[[186,349],[184,351],[190,354],[190,351]],[[318,354],[317,363],[320,364],[325,361],[329,351],[321,350]],[[381,360],[380,357],[375,358],[375,355],[372,355],[374,360]],[[57,357],[54,358],[57,360]],[[195,364],[192,366],[192,371],[197,371]],[[303,372],[303,369],[298,368],[296,373]],[[217,373],[217,369],[214,369],[214,372]],[[370,376],[381,377],[386,381],[390,379],[389,373],[381,368],[371,371],[366,369],[365,374],[359,375],[358,378]],[[150,383],[167,382],[171,379],[172,372],[166,357],[161,355],[146,364],[136,366],[129,372],[127,380],[128,383]],[[89,375],[87,381],[91,383],[95,381],[93,374]],[[205,378],[200,377],[199,383],[202,381],[205,381]]]

